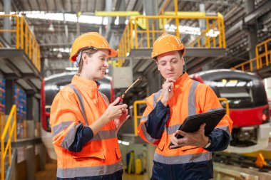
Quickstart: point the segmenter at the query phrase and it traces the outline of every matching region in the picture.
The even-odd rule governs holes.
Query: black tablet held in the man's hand
[[[215,110],[212,112],[205,112],[198,115],[192,115],[185,118],[183,125],[180,126],[179,130],[183,132],[196,132],[200,129],[200,125],[205,123],[205,136],[210,134],[215,129],[218,122],[224,117],[226,111],[224,109]],[[175,137],[178,139],[183,138],[182,135],[176,134]],[[170,142],[170,146],[173,144]],[[178,148],[178,147],[177,147]]]

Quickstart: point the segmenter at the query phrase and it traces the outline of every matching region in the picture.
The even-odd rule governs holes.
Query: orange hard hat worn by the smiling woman
[[[108,49],[109,57],[116,57],[118,54],[116,50],[109,46],[106,38],[101,36],[101,34],[89,32],[78,36],[78,38],[73,42],[73,46],[71,46],[71,62],[76,61],[78,53],[86,48]]]

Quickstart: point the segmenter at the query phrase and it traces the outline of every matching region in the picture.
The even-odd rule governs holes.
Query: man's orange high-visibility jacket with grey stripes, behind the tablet
[[[160,102],[163,98],[162,90],[146,99],[147,107],[141,117],[138,134],[145,142],[157,145],[154,154],[156,165],[210,162],[211,152],[227,148],[230,142],[232,120],[225,115],[215,127],[216,129],[208,135],[212,142],[208,149],[192,146],[169,149],[170,137],[182,125],[186,117],[222,108],[215,92],[208,85],[190,79],[187,73],[176,80],[173,92],[173,97],[168,100],[168,107]],[[212,169],[209,170],[213,174],[213,164],[210,167]],[[167,169],[167,167],[163,166],[162,169]],[[173,169],[172,171],[174,171]],[[162,173],[162,171],[158,170],[158,173]],[[180,174],[180,171],[175,173]],[[191,171],[191,173],[195,172]],[[176,174],[175,179],[181,179]],[[193,176],[190,178],[193,179]],[[163,178],[160,176],[160,179]],[[169,175],[168,179],[170,179]]]

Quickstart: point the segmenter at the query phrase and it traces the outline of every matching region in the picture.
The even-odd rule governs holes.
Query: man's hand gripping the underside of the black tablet
[[[208,144],[209,138],[204,134],[204,127],[205,123],[200,125],[200,129],[196,132],[183,132],[177,130],[172,137],[170,137],[171,142],[174,144],[173,146],[170,146],[170,149],[184,146],[205,147],[205,145]],[[183,138],[177,139],[175,134],[181,134]]]

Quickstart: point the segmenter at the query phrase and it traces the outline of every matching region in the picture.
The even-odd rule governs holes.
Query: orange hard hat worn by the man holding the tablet
[[[185,46],[180,42],[180,38],[171,34],[162,34],[156,41],[153,43],[153,52],[151,53],[151,58],[156,56],[168,53],[170,51],[183,51],[185,55]]]

